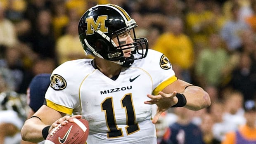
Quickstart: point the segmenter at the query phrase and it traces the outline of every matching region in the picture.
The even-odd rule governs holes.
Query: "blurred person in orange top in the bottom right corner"
[[[246,124],[228,132],[221,144],[256,144],[256,107],[254,101],[244,103]]]

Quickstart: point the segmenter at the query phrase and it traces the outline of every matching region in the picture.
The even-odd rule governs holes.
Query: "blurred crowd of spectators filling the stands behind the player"
[[[139,25],[136,36],[166,54],[179,79],[211,97],[208,109],[163,113],[156,125],[159,144],[220,144],[248,119],[256,131],[256,0],[0,0],[0,112],[9,110],[7,96],[24,105],[34,76],[91,58],[81,47],[78,21],[102,3],[123,7]],[[14,134],[0,131],[0,137]]]

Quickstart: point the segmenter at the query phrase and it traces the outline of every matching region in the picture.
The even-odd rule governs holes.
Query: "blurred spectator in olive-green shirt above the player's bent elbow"
[[[218,34],[211,34],[208,44],[198,54],[195,63],[196,80],[203,87],[219,87],[222,84],[223,71],[229,61],[229,54],[222,47]]]

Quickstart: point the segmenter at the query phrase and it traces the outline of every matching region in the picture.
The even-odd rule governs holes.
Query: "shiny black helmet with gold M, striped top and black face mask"
[[[78,33],[85,53],[128,67],[134,60],[147,56],[148,41],[147,38],[136,38],[134,28],[137,26],[123,8],[113,4],[96,5],[81,17]],[[120,43],[118,36],[125,32],[133,38],[132,43]],[[117,38],[118,46],[113,38]],[[129,58],[123,54],[126,49],[132,50]]]

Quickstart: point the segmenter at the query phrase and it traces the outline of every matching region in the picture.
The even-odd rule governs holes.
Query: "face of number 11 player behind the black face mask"
[[[134,42],[133,38],[130,36],[129,31],[121,33],[120,35],[118,35],[118,38],[119,38],[120,45],[126,45],[121,47],[122,49],[126,47],[130,47],[131,45],[127,45],[127,44]],[[113,38],[113,41],[115,42],[116,46],[119,46],[119,42],[116,37]],[[131,54],[132,54],[132,49],[123,50],[124,57],[130,57]]]

